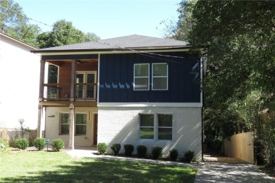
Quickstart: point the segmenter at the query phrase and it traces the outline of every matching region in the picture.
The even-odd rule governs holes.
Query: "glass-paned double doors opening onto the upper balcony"
[[[75,96],[78,99],[96,99],[97,72],[76,72]]]

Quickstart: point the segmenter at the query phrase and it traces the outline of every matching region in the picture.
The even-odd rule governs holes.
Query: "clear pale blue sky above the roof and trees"
[[[181,0],[13,0],[27,17],[53,25],[71,21],[82,32],[93,32],[101,39],[140,34],[164,37],[163,20],[178,20]],[[37,24],[43,32],[51,27]]]

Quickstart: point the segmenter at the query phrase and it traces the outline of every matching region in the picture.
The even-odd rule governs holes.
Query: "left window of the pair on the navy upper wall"
[[[134,90],[149,90],[149,63],[134,65]]]

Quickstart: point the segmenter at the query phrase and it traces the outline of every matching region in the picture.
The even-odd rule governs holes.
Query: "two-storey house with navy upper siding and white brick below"
[[[69,149],[142,144],[201,158],[202,62],[189,49],[130,35],[32,51],[42,54],[39,136],[45,123],[44,136]],[[58,83],[43,82],[45,63],[58,66]]]

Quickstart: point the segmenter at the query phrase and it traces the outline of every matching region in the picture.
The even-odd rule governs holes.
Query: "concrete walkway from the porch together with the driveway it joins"
[[[161,163],[166,165],[183,165],[198,167],[195,183],[198,182],[251,182],[266,183],[275,182],[275,179],[265,175],[255,165],[228,164],[228,163],[179,163],[173,161],[150,160],[140,158],[126,158],[118,156],[98,155],[97,149],[63,149],[73,158],[104,158],[108,160],[141,160],[147,163]]]

